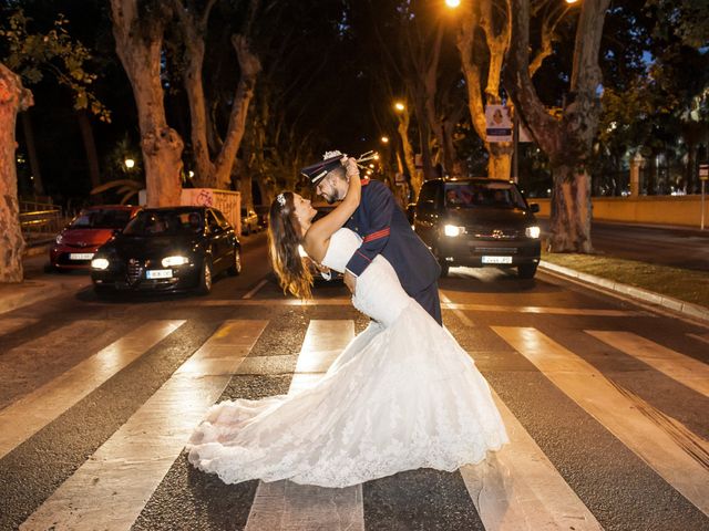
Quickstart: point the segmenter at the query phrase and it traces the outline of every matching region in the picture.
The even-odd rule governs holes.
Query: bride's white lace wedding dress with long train
[[[340,229],[322,263],[342,272],[360,237]],[[487,383],[378,256],[354,306],[373,321],[314,387],[210,408],[189,461],[227,483],[347,487],[421,467],[453,471],[507,442]]]

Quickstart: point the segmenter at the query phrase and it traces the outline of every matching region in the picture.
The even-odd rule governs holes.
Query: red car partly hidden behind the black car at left
[[[56,236],[49,260],[56,271],[88,270],[96,250],[123,230],[141,207],[104,205],[84,208]]]

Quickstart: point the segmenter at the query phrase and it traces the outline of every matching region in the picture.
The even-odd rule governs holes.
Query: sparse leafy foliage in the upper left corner
[[[31,22],[32,19],[18,9],[0,27],[0,38],[7,50],[2,62],[27,85],[39,83],[47,74],[54,76],[71,91],[74,108],[88,110],[102,122],[111,122],[109,110],[91,91],[97,76],[84,69],[91,53],[71,38],[66,30],[69,20],[60,13],[53,29],[45,33],[31,33],[28,29]]]

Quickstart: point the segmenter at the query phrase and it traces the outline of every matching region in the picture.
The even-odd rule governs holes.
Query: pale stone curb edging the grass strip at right
[[[649,302],[650,304],[667,308],[668,310],[672,310],[677,313],[709,322],[709,309],[700,306],[698,304],[680,301],[679,299],[674,299],[671,296],[662,295],[654,291],[644,290],[643,288],[621,284],[620,282],[604,279],[603,277],[596,277],[595,274],[582,273],[574,269],[557,266],[544,260],[540,261],[540,267],[547,271],[553,271],[557,274],[576,279],[584,283],[597,285],[598,288],[618,293],[630,299]]]

